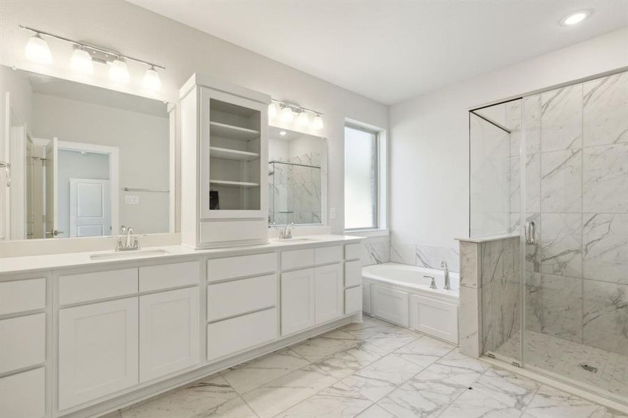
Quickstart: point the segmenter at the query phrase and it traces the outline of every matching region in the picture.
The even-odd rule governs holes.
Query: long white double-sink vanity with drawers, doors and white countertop
[[[89,417],[360,320],[359,242],[0,259],[0,410]]]

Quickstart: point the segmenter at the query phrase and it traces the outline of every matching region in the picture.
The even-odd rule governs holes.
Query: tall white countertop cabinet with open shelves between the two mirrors
[[[180,94],[183,243],[266,242],[270,96],[199,74]]]

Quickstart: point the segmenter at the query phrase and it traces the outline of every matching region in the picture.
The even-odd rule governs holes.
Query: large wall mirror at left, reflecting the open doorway
[[[174,232],[167,103],[0,70],[3,239]]]

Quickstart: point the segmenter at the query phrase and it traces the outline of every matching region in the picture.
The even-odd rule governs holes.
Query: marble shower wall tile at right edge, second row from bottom
[[[583,277],[628,284],[628,214],[584,213],[582,243]]]

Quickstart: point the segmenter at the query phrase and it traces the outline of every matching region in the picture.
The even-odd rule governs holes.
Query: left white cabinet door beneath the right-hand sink
[[[315,324],[316,281],[314,269],[282,273],[282,335]]]

